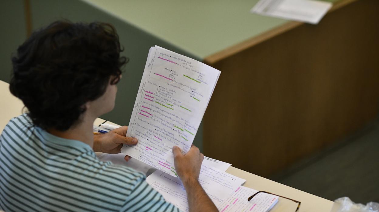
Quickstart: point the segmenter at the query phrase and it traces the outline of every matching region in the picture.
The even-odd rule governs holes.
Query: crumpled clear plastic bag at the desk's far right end
[[[356,204],[348,197],[338,198],[334,202],[341,205],[337,212],[379,212],[379,203],[375,202]]]

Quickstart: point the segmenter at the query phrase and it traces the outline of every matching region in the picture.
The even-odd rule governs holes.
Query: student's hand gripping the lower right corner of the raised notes
[[[200,153],[199,148],[192,145],[186,154],[178,146],[172,148],[174,153],[174,165],[176,173],[184,184],[193,180],[199,179],[201,163],[204,160],[204,155]]]

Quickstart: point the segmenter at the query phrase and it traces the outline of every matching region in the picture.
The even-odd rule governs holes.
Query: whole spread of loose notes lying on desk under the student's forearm
[[[206,157],[200,171],[199,182],[219,211],[267,212],[277,203],[278,196],[266,193],[259,193],[251,201],[247,201],[257,191],[241,186],[246,180],[226,173],[230,165]],[[189,211],[186,191],[178,177],[157,170],[146,178],[146,182],[166,201],[180,210]]]

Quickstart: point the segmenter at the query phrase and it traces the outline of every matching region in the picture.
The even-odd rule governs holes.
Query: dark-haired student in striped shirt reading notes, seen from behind
[[[0,209],[5,211],[177,211],[126,166],[101,162],[95,151],[119,153],[127,126],[93,135],[111,111],[127,58],[114,27],[58,21],[34,32],[12,58],[11,93],[28,113],[0,137]],[[190,211],[217,211],[199,184],[204,155],[172,149]],[[130,157],[125,156],[125,160]]]

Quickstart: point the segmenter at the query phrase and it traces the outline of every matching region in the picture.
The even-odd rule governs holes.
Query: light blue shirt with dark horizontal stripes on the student
[[[23,114],[0,136],[0,209],[179,211],[142,173],[100,161],[81,141],[56,137]]]

